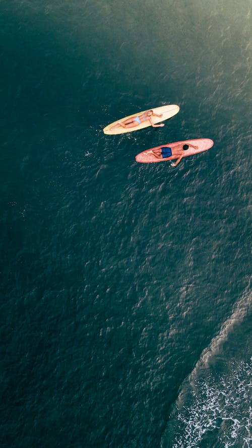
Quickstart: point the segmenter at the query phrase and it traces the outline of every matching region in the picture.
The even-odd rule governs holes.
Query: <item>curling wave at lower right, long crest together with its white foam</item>
[[[223,448],[251,446],[252,358],[250,363],[229,361],[229,373],[225,375],[216,371],[212,373],[209,369],[222,354],[223,343],[248,315],[250,306],[251,293],[246,291],[184,381],[170,416],[166,437],[161,442],[162,448],[167,446],[166,438],[172,443],[168,444],[172,448],[199,447],[203,440],[206,446],[212,446],[213,438]]]

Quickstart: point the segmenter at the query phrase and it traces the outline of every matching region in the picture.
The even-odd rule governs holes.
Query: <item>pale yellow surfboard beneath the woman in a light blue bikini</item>
[[[146,109],[146,110],[149,110],[149,109]],[[142,112],[134,113],[133,115],[129,115],[128,117],[121,118],[119,121],[124,121],[124,120],[127,120],[128,118],[142,115],[144,112],[146,112],[146,110],[143,110]],[[178,113],[178,111],[179,111],[179,107],[176,104],[167,104],[166,106],[155,107],[155,109],[152,109],[152,110],[154,113],[157,113],[157,114],[162,113],[162,117],[155,117],[155,116],[151,117],[153,123],[156,124],[156,123],[163,122],[164,120],[167,120],[168,118],[171,118],[173,115],[176,115],[176,113]],[[116,123],[118,123],[118,120],[114,121],[113,123],[104,127],[104,129],[103,129],[104,134],[109,134],[109,135],[124,134],[127,132],[138,131],[139,129],[144,129],[144,127],[151,126],[150,121],[146,120],[146,121],[143,121],[142,123],[140,123],[138,126],[127,127],[127,128],[120,126],[120,127],[115,127],[114,129],[111,129],[111,127],[114,126],[114,124],[116,124]]]

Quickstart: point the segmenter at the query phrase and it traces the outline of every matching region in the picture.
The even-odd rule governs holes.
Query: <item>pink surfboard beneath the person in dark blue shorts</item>
[[[153,149],[164,148],[166,146],[169,146],[172,149],[172,147],[180,145],[181,143],[183,145],[185,145],[186,143],[191,143],[191,145],[198,146],[198,149],[188,148],[184,153],[184,157],[192,156],[193,154],[198,154],[203,151],[207,151],[208,149],[212,148],[214,144],[213,140],[211,139],[183,140],[181,142],[167,143],[166,145],[156,146],[155,148],[150,148],[147,149],[146,151],[139,153],[136,156],[136,161],[143,163],[151,163],[151,162],[163,162],[165,160],[177,159],[178,158],[177,156],[170,156],[166,157],[165,159],[157,159],[153,154],[150,153],[150,151]]]

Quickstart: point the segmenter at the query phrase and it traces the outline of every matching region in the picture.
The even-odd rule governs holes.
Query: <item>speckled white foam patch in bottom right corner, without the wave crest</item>
[[[172,417],[172,448],[198,447],[203,439],[206,446],[212,446],[214,432],[218,446],[249,448],[252,408],[246,404],[251,395],[250,378],[251,363],[241,363],[225,378],[209,375],[196,381],[188,402]]]

